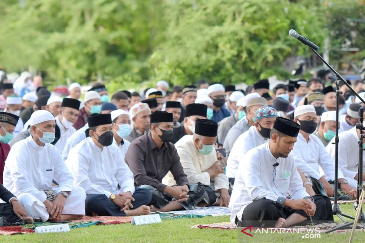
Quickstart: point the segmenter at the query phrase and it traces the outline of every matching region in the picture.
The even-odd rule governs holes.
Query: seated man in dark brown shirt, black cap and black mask
[[[191,188],[174,145],[173,114],[156,111],[151,114],[150,132],[131,142],[125,161],[138,187],[152,192],[151,212],[194,209],[204,198],[202,184]],[[167,186],[162,178],[171,171],[177,185]]]

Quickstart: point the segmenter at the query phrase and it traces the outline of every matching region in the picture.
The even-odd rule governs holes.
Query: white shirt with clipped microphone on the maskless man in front
[[[273,167],[276,162],[279,165]],[[309,196],[303,187],[292,155],[289,154],[287,158],[275,158],[270,151],[269,143],[251,149],[239,161],[228,205],[231,222],[234,223],[236,216],[241,220],[243,210],[253,201],[263,197],[273,201],[277,201],[279,197],[285,199],[288,192],[292,199]]]

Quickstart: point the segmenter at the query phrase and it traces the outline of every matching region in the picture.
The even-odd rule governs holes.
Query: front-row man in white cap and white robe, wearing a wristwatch
[[[85,215],[85,191],[73,178],[61,154],[50,143],[55,119],[46,110],[30,117],[31,136],[14,144],[5,161],[4,187],[19,199],[33,219],[67,221]],[[58,183],[52,187],[52,180]]]

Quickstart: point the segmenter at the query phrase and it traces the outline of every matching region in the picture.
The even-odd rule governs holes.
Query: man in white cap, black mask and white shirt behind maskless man
[[[312,105],[302,105],[294,110],[294,122],[300,125],[300,131],[291,154],[299,169],[310,177],[314,191],[333,197],[334,189],[328,181],[335,179],[335,162],[319,138],[312,134],[317,128],[316,120]],[[324,173],[320,172],[320,168]],[[349,185],[341,169],[338,170],[338,183],[344,193],[356,196],[355,189]]]

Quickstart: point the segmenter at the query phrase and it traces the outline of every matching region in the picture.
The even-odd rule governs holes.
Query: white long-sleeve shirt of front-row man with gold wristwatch
[[[134,193],[134,179],[122,152],[115,144],[100,149],[88,137],[70,150],[65,161],[74,177],[74,185],[86,194]],[[120,190],[118,189],[118,184]]]

